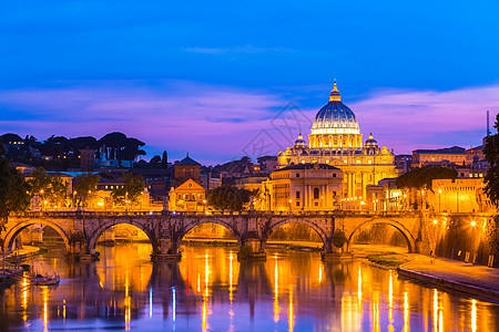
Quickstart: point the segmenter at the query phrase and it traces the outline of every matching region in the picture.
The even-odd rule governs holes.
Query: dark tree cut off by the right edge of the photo
[[[483,148],[485,157],[490,165],[483,179],[483,191],[490,201],[499,208],[499,114],[496,115],[493,127],[498,131],[498,134],[488,136]]]

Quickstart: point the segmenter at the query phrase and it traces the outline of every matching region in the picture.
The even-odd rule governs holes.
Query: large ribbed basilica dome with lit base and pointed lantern
[[[329,103],[322,107],[312,125],[312,134],[359,134],[354,112],[342,102],[336,82],[329,95]]]

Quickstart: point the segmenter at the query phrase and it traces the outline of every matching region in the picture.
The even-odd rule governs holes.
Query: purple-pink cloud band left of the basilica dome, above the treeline
[[[224,158],[242,155],[248,137],[283,104],[271,94],[185,83],[156,91],[123,86],[2,91],[0,110],[11,120],[0,121],[0,132],[43,139],[121,131],[144,141],[151,153],[175,148]]]

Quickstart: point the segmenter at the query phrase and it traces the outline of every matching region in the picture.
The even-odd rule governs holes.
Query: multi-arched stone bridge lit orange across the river
[[[410,252],[428,248],[424,215],[367,215],[342,211],[312,214],[272,214],[256,211],[220,212],[94,212],[57,211],[28,212],[9,218],[1,231],[3,249],[12,251],[16,237],[27,227],[44,225],[53,228],[64,240],[68,253],[91,258],[104,230],[121,224],[133,225],[145,232],[153,247],[153,258],[177,259],[183,237],[202,224],[217,224],[228,229],[240,247],[264,255],[265,245],[274,230],[286,224],[302,224],[314,229],[324,242],[325,253],[333,253],[333,234],[342,229],[347,237],[346,249],[359,230],[375,224],[386,224],[401,232]]]

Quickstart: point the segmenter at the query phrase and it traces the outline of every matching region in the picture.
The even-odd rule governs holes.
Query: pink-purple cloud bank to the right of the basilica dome
[[[499,113],[499,86],[454,91],[386,90],[350,105],[363,132],[409,153],[416,148],[480,145],[486,112]]]

